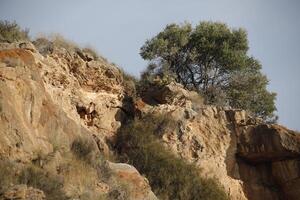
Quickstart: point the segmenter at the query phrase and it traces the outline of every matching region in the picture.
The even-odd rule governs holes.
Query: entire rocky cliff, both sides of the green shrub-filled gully
[[[57,199],[26,176],[37,173],[42,180],[56,177],[61,199],[157,199],[133,166],[111,159],[122,123],[149,113],[173,119],[158,129],[160,140],[218,180],[231,199],[300,196],[296,132],[242,110],[204,105],[178,84],[134,100],[123,73],[105,59],[50,47],[0,45],[0,176],[16,169],[7,170],[13,172],[8,182],[0,181],[0,199]]]

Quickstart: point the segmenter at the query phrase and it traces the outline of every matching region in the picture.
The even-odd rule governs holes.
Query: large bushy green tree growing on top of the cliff
[[[142,46],[150,61],[142,79],[172,77],[185,88],[202,94],[207,103],[248,110],[274,120],[276,94],[258,60],[249,56],[247,32],[226,24],[201,22],[170,24]]]

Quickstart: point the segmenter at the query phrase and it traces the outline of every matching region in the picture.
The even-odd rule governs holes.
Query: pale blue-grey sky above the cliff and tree
[[[218,21],[248,31],[249,55],[261,61],[277,93],[279,123],[300,131],[299,0],[0,0],[0,19],[30,35],[60,33],[92,46],[139,76],[139,49],[167,24]]]

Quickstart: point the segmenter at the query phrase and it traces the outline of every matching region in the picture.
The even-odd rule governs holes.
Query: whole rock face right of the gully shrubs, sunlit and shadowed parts
[[[162,98],[164,104],[139,107],[174,120],[159,131],[167,148],[195,163],[203,176],[218,179],[232,199],[299,199],[299,133],[263,124],[243,110],[199,105],[191,98],[177,104],[178,90],[167,86],[161,90],[166,94],[159,92],[171,97]]]

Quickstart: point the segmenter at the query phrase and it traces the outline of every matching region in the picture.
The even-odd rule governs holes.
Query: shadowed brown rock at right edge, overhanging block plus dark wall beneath
[[[299,198],[299,133],[279,125],[250,126],[239,133],[237,147],[240,178],[251,199]]]

